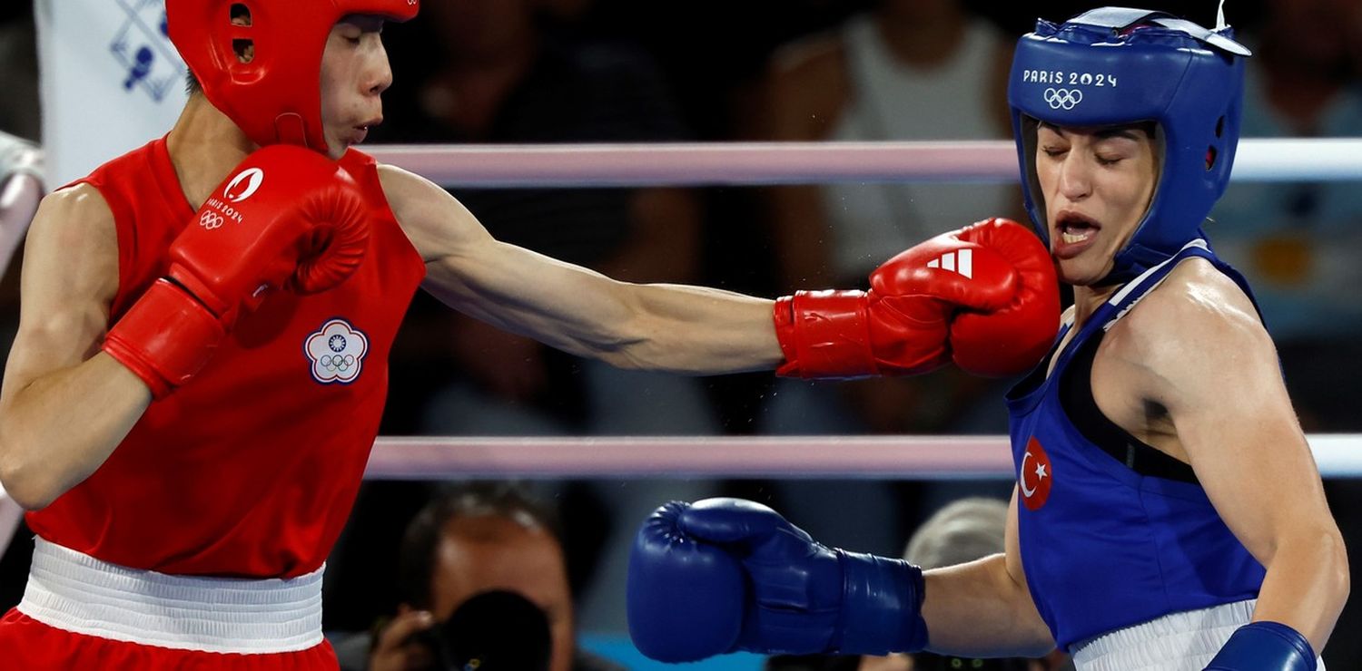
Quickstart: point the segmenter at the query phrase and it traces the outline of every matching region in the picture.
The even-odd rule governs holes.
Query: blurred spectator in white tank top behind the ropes
[[[797,41],[770,67],[756,127],[771,140],[966,140],[1011,137],[1012,44],[957,0],[880,0],[838,30]],[[779,287],[862,283],[884,249],[986,216],[1026,220],[1016,185],[829,184],[770,189]],[[945,367],[926,376],[829,385],[779,380],[759,419],[767,434],[1007,433],[1005,387]],[[953,487],[953,489],[952,489]],[[829,544],[898,554],[922,497],[959,487],[805,482],[778,487],[780,509]],[[978,490],[1005,495],[1005,489]],[[838,509],[857,510],[829,517]]]

